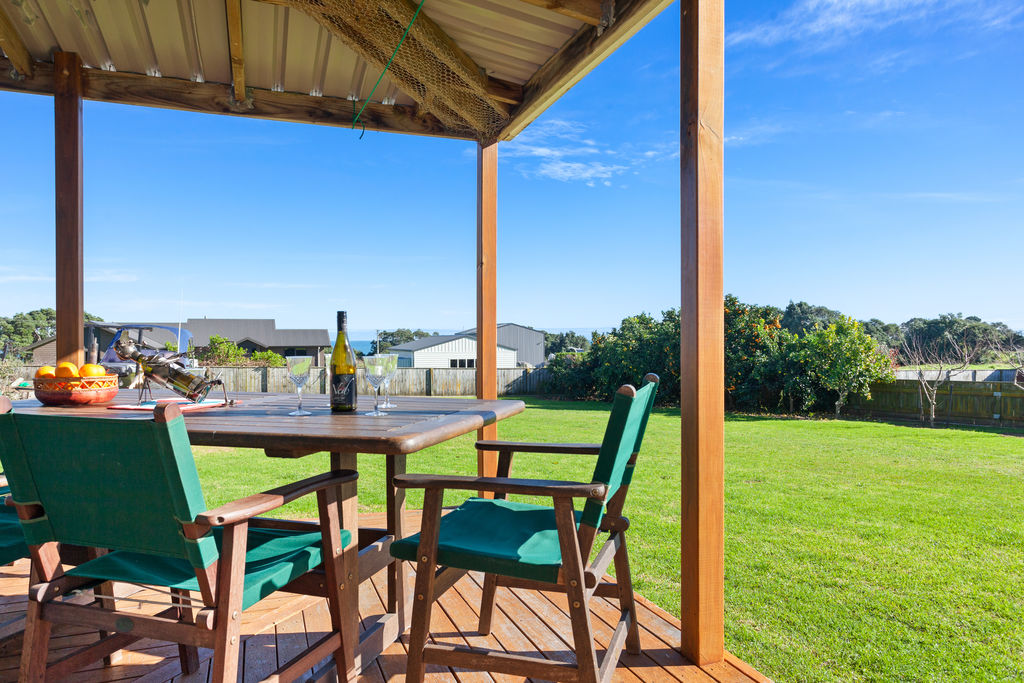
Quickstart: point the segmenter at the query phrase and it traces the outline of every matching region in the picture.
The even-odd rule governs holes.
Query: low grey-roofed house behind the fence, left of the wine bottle
[[[96,340],[96,346],[101,355],[103,349],[110,346],[118,328],[124,325],[153,325],[165,328],[176,328],[177,323],[87,323],[85,326],[86,351]],[[273,351],[281,355],[312,355],[316,365],[324,366],[326,355],[324,350],[331,347],[331,336],[323,330],[279,330],[270,318],[238,318],[238,317],[189,317],[181,323],[181,327],[193,335],[194,346],[206,346],[210,337],[218,335],[231,340],[249,353],[253,351]],[[175,348],[177,336],[170,330],[155,327],[153,330],[133,330],[132,339],[151,348]],[[43,339],[27,350],[32,351],[33,362],[54,365],[56,361],[56,346],[54,337]]]

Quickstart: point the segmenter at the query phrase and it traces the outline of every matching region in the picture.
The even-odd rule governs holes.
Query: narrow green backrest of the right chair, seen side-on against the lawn
[[[657,384],[657,375],[651,374],[644,377],[643,386],[639,390],[626,384],[615,392],[593,478],[594,481],[605,484],[607,493],[603,502],[588,499],[581,523],[597,528],[604,516],[607,501],[614,497],[621,486],[630,484],[634,456],[640,452],[643,443],[647,419],[654,407]]]

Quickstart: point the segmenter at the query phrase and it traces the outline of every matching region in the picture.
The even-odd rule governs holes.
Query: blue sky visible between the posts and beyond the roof
[[[726,291],[1024,328],[1024,6],[730,0],[726,22]],[[501,145],[501,321],[679,304],[678,26],[676,3]],[[54,299],[52,102],[0,92],[0,120],[11,314]],[[88,311],[474,325],[472,144],[96,102],[85,127]]]

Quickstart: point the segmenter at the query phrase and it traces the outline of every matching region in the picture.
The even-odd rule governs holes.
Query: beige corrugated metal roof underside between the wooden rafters
[[[78,52],[86,67],[230,84],[224,3],[212,0],[0,0],[33,58]],[[522,84],[583,23],[520,0],[430,0],[423,12],[488,76]],[[379,70],[305,13],[243,0],[246,83],[337,97],[370,95]],[[375,101],[413,99],[384,77]]]

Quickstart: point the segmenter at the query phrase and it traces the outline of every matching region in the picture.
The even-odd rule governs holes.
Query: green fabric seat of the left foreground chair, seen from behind
[[[213,529],[220,550],[221,529]],[[341,530],[342,546],[352,535]],[[246,543],[246,573],[242,608],[256,604],[321,563],[319,531],[250,528]],[[196,569],[186,559],[116,550],[68,571],[74,577],[123,581],[199,591]]]

